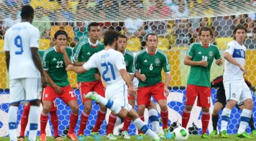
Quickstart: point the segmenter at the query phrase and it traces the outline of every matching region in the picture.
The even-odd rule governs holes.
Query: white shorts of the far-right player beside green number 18
[[[234,100],[243,102],[252,99],[251,91],[245,82],[224,82],[226,101]]]

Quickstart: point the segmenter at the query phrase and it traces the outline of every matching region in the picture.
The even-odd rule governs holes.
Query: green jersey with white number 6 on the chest
[[[139,81],[139,87],[155,85],[162,82],[162,68],[165,73],[170,73],[169,59],[167,55],[161,51],[155,54],[148,54],[147,50],[140,51],[135,57],[136,70],[140,70],[140,74],[146,76],[146,81]]]

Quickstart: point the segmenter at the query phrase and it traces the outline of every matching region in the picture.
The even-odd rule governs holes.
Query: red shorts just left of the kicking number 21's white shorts
[[[82,103],[85,101],[90,101],[90,99],[84,98],[86,96],[86,94],[90,91],[96,91],[101,97],[105,97],[105,89],[104,89],[101,81],[79,82],[78,88],[80,91]]]

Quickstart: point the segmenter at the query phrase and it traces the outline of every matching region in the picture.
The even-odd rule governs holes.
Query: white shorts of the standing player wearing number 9
[[[20,78],[10,80],[10,104],[41,99],[40,78]]]

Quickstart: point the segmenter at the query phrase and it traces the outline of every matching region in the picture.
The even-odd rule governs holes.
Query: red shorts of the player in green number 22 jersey
[[[51,86],[46,86],[44,93],[42,94],[42,102],[51,101],[54,102],[56,98],[60,98],[67,105],[72,100],[77,100],[75,92],[70,85],[61,88],[62,93],[58,95]]]

